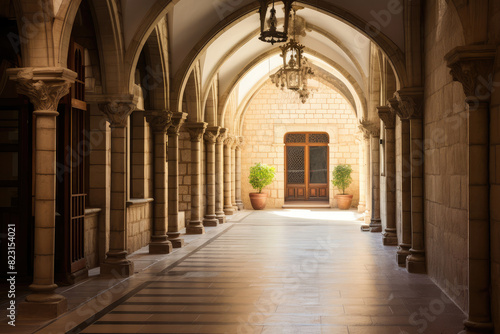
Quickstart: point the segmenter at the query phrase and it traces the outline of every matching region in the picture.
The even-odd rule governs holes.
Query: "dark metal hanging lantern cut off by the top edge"
[[[276,17],[276,8],[273,6],[270,11],[269,19],[267,18],[268,13],[268,0],[260,1],[260,37],[259,39],[266,43],[284,43],[288,40],[288,22],[290,19],[290,12],[292,10],[292,3],[294,0],[283,0],[285,5],[285,24],[283,31],[278,30],[278,18]],[[266,27],[267,25],[267,27]],[[268,30],[266,30],[266,28]]]

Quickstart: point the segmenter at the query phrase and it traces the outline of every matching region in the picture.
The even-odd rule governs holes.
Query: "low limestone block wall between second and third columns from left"
[[[131,254],[149,244],[153,220],[153,202],[127,203],[127,220],[127,251]]]

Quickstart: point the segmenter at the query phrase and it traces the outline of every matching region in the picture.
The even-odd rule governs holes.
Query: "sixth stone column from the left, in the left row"
[[[219,224],[215,214],[215,143],[219,131],[219,126],[209,127],[204,136],[207,143],[207,210],[203,219],[204,226],[217,226]]]

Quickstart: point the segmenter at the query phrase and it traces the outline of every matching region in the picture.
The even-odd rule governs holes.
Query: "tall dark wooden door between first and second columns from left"
[[[84,48],[71,43],[68,67],[78,76],[60,105],[58,117],[58,224],[56,261],[60,280],[86,269],[85,208],[88,169],[88,115],[85,103]],[[57,270],[57,269],[56,269]]]

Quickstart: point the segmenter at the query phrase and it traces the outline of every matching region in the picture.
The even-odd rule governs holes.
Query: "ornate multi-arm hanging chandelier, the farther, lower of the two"
[[[304,45],[296,40],[295,36],[296,11],[293,12],[294,37],[288,43],[280,46],[283,67],[271,75],[271,81],[281,90],[292,90],[297,92],[302,103],[306,103],[310,97],[307,80],[314,76],[314,72],[304,57]]]

